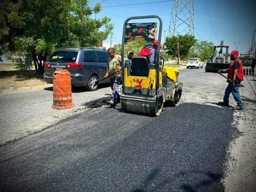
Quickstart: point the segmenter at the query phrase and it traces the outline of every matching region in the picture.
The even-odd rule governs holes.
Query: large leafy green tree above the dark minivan
[[[43,73],[43,63],[55,48],[99,46],[113,29],[110,18],[90,18],[101,6],[88,7],[87,0],[4,3],[7,16],[0,17],[5,23],[0,48],[2,52],[19,50],[31,55],[37,74]]]

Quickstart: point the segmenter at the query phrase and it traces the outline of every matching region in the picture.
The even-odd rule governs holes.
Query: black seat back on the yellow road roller
[[[149,75],[149,65],[147,58],[144,56],[136,56],[131,59],[131,73],[132,76],[147,77]]]

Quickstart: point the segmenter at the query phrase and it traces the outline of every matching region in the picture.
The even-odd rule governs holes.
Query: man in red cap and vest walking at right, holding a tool
[[[233,61],[229,68],[225,70],[220,70],[219,72],[228,72],[228,86],[225,90],[225,94],[223,97],[223,102],[219,102],[218,104],[221,106],[229,106],[229,95],[232,93],[235,101],[237,102],[237,106],[233,107],[235,110],[243,110],[244,103],[240,97],[239,93],[239,85],[241,81],[244,80],[244,70],[242,62],[238,58],[238,51],[233,50],[230,54],[230,59]]]

